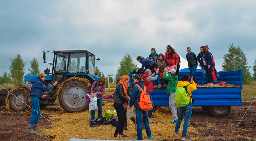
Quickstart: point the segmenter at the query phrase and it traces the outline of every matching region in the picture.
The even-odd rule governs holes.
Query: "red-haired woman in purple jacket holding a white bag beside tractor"
[[[105,94],[105,85],[106,81],[104,77],[101,77],[98,79],[98,81],[94,81],[91,87],[91,95],[94,98],[94,96],[97,97],[97,105],[98,105],[98,118],[102,117],[102,99],[101,96]],[[93,121],[95,119],[95,110],[91,110],[91,120]]]

